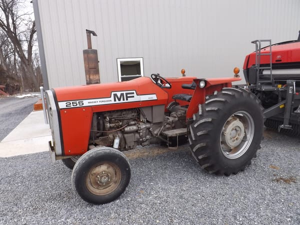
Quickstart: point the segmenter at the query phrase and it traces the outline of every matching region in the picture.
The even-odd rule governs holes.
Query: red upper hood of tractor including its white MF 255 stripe
[[[163,104],[167,99],[167,93],[154,84],[149,77],[116,83],[58,87],[51,90],[55,93],[59,108],[159,99]]]

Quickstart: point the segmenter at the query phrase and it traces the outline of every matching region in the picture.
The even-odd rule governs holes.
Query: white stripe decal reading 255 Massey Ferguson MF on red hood
[[[74,108],[92,105],[157,100],[156,94],[136,94],[135,90],[112,91],[110,97],[59,101],[59,108]]]

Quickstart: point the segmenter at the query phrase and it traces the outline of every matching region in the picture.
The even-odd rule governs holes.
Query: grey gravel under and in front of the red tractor
[[[206,173],[186,145],[132,157],[127,189],[105,205],[81,200],[47,152],[0,158],[0,224],[299,224],[299,143],[269,131],[229,177]]]

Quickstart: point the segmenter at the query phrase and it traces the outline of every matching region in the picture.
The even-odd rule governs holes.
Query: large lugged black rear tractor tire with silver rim
[[[199,105],[188,139],[201,167],[225,175],[244,170],[260,147],[262,109],[259,99],[243,88],[223,88]]]

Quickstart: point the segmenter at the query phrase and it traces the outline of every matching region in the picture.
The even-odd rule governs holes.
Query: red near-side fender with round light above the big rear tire
[[[205,82],[203,87],[200,87],[201,81]],[[192,121],[193,113],[199,110],[199,104],[205,102],[205,96],[220,91],[223,87],[232,87],[231,82],[241,80],[239,77],[224,77],[224,78],[209,78],[209,79],[194,79],[193,81],[197,84],[192,94],[186,111],[186,121]]]

